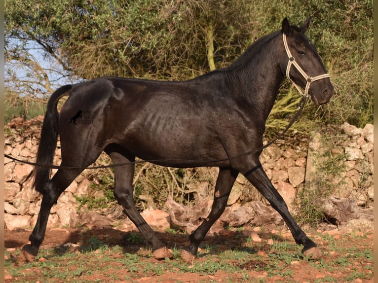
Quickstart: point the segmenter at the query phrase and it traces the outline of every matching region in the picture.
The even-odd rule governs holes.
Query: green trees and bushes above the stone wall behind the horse
[[[6,0],[5,46],[14,38],[24,42],[6,48],[17,59],[25,42],[34,41],[64,70],[85,79],[184,80],[209,71],[213,63],[228,66],[251,42],[278,30],[285,16],[297,25],[312,16],[308,37],[337,89],[329,106],[308,107],[295,127],[305,131],[320,120],[359,127],[372,122],[373,0]],[[275,111],[270,128],[282,128],[295,109],[298,96],[290,89],[286,84],[278,101],[289,96],[291,106]]]

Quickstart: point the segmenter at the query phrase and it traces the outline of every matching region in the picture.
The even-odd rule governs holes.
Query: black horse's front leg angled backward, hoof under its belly
[[[198,246],[205,238],[206,233],[211,226],[225,211],[229,193],[232,185],[238,175],[237,171],[220,168],[217,182],[215,185],[214,202],[209,216],[198,226],[198,228],[189,236],[190,245],[181,251],[181,258],[188,263],[193,263],[196,258]]]

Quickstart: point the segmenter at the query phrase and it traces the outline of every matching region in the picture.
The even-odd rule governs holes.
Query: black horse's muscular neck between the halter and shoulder
[[[259,39],[229,67],[232,93],[264,121],[284,78],[281,66],[286,57],[280,35],[275,32]]]

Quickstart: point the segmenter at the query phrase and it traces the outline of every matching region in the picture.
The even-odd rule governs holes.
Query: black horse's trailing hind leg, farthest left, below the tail
[[[45,183],[38,219],[29,237],[30,244],[22,248],[22,259],[24,261],[32,262],[36,257],[39,246],[42,244],[46,233],[47,220],[52,206],[56,204],[59,196],[81,172],[82,170],[60,169],[51,180]]]

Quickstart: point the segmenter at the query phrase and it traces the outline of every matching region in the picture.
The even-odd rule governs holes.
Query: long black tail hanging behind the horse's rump
[[[52,164],[58,141],[58,101],[63,96],[70,95],[70,93],[67,92],[69,92],[71,88],[71,84],[60,87],[51,95],[47,103],[47,110],[43,119],[36,161],[36,163],[41,164],[42,166],[36,166],[32,172],[32,176],[34,176],[33,187],[41,194],[44,194],[44,184],[50,179],[51,174],[51,168],[43,165]]]

